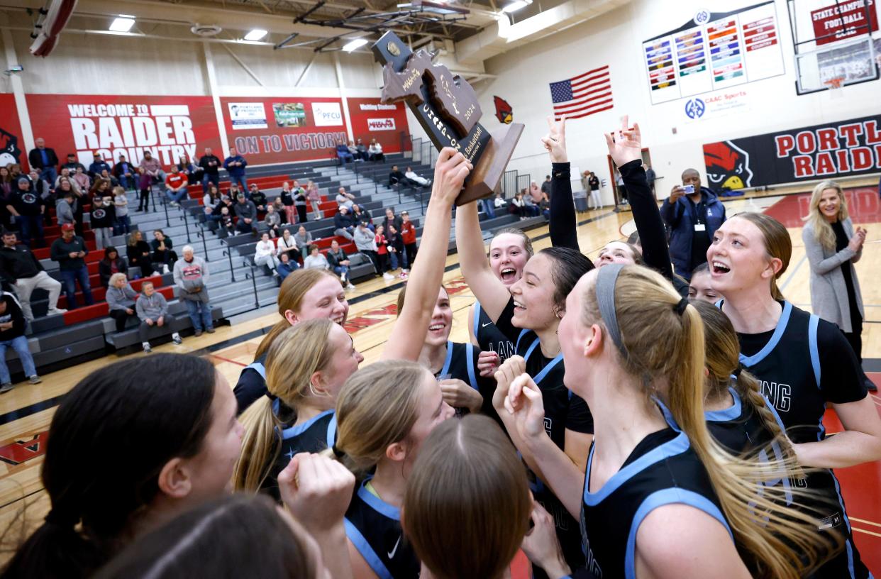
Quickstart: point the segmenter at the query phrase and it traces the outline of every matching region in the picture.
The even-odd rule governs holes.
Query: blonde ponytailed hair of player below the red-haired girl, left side
[[[312,375],[328,366],[333,349],[329,333],[334,323],[326,318],[288,326],[278,334],[266,356],[266,390],[294,411],[311,393]],[[233,471],[235,490],[257,491],[278,457],[277,428],[284,427],[273,412],[270,397],[260,397],[241,416],[245,436]]]

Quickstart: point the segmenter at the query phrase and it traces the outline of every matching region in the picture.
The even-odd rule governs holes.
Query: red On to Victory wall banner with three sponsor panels
[[[220,107],[229,145],[251,165],[325,160],[348,140],[337,98],[221,97]],[[248,122],[241,117],[245,112]]]

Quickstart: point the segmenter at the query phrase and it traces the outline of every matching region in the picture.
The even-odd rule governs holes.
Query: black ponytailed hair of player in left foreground
[[[202,448],[215,381],[208,360],[157,354],[102,367],[74,386],[49,427],[42,482],[52,509],[3,579],[78,579],[113,556],[159,494],[163,466]]]

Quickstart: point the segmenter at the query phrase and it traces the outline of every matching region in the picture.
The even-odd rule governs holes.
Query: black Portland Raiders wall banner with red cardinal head
[[[881,115],[704,145],[714,189],[834,179],[881,170]]]

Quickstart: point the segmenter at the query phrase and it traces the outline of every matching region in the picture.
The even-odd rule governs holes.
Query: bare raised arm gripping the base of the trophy
[[[441,149],[434,166],[432,196],[426,210],[419,258],[410,272],[403,308],[382,351],[384,360],[418,360],[423,339],[413,337],[425,336],[431,323],[447,261],[453,203],[470,170],[471,164],[461,152],[449,147]],[[480,247],[483,248],[482,242]]]

